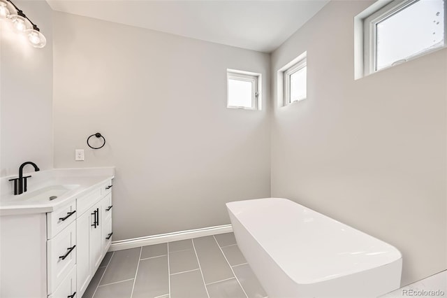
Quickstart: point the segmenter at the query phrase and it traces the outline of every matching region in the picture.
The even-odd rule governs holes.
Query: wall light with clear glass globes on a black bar
[[[10,0],[0,0],[0,18],[8,19],[13,23],[13,27],[20,33],[28,37],[29,43],[35,48],[43,48],[47,44],[47,39],[38,29],[34,22]]]

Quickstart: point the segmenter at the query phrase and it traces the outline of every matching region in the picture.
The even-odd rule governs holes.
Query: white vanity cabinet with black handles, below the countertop
[[[0,297],[82,297],[112,241],[111,185],[52,212],[0,216]]]

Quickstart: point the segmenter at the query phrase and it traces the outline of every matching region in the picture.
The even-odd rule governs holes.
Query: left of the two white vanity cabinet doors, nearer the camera
[[[78,273],[77,273],[77,290],[78,293],[84,293],[85,289],[89,285],[90,276],[93,271],[90,269],[90,227],[94,221],[94,215],[87,211],[82,214],[78,220],[76,220],[76,237],[78,241],[77,261],[78,261]]]

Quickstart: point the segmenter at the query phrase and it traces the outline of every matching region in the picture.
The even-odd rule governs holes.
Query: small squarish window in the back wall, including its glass
[[[227,107],[260,110],[261,74],[227,70]]]

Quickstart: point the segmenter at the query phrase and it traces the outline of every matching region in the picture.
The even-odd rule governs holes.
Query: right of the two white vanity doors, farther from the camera
[[[103,225],[102,216],[101,216],[101,201],[98,201],[91,209],[90,213],[93,215],[90,232],[89,232],[89,240],[90,240],[90,267],[91,272],[94,273],[96,269],[98,269],[99,264],[103,259],[103,250],[101,250],[101,227]],[[96,215],[95,215],[96,213]]]

